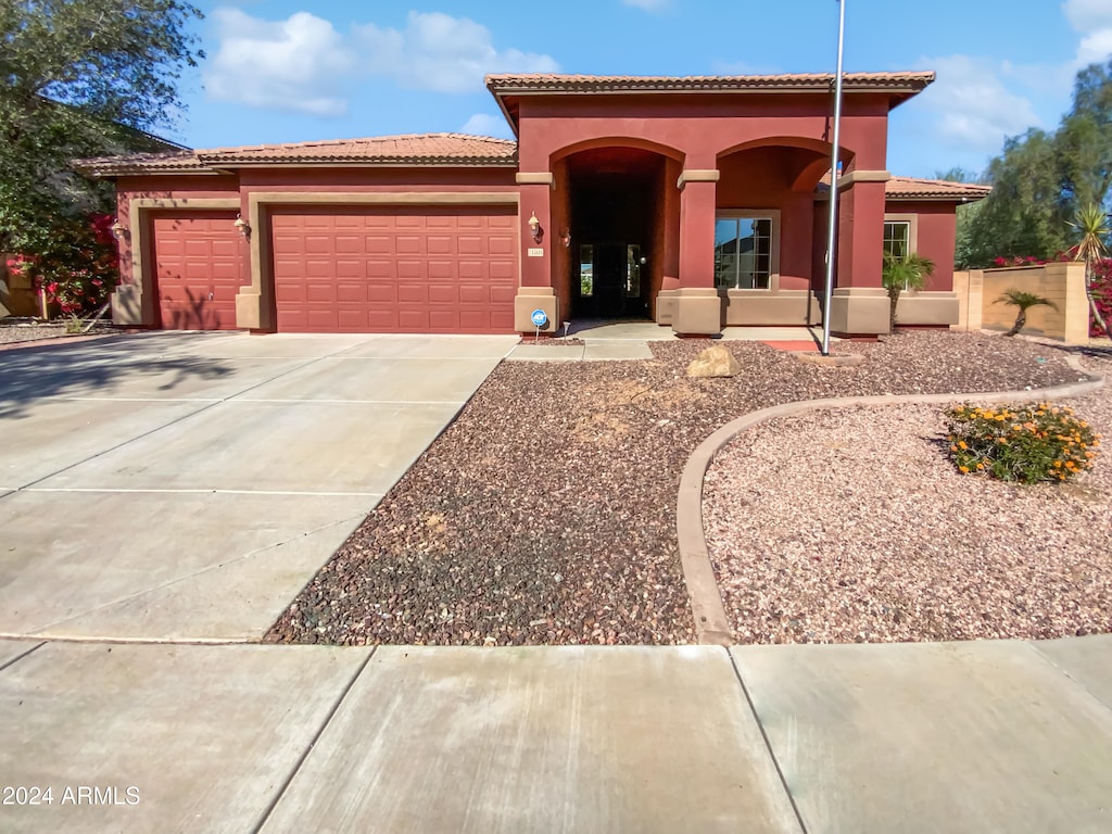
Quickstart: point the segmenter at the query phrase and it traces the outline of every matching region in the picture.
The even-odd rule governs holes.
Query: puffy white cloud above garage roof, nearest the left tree
[[[355,54],[330,22],[297,12],[280,22],[238,9],[212,12],[220,47],[205,73],[212,98],[259,108],[340,116]]]

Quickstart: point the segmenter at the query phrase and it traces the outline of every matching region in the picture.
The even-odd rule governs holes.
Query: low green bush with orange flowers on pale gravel
[[[1101,443],[1072,409],[1050,403],[955,406],[946,411],[946,429],[959,470],[1021,484],[1072,478],[1092,466]]]

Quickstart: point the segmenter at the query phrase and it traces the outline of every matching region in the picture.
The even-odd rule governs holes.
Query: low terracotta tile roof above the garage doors
[[[129,173],[206,172],[259,165],[516,166],[517,142],[461,133],[415,133],[367,139],[256,145],[180,153],[142,153],[78,160],[78,170],[100,177]]]

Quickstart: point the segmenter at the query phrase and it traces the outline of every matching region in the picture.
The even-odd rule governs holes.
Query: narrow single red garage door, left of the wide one
[[[167,330],[234,330],[247,244],[235,211],[189,211],[152,218],[155,291]]]

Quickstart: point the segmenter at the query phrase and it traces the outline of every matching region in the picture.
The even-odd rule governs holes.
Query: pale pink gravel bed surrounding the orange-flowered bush
[[[1086,364],[1112,375],[1112,360]],[[734,638],[1112,632],[1112,391],[1060,401],[1104,437],[1093,468],[1061,485],[961,475],[937,406],[816,411],[735,438],[703,504]]]

